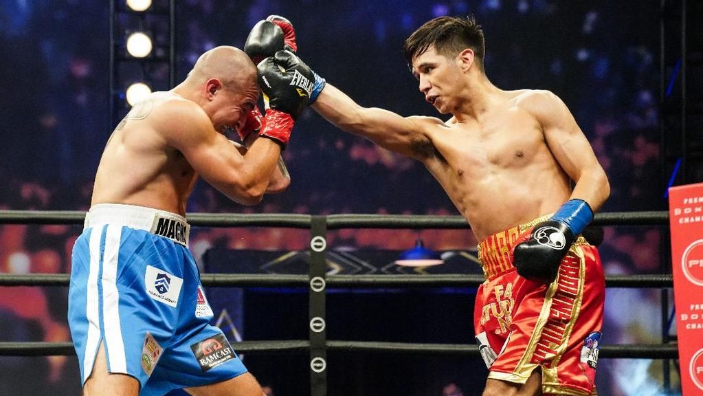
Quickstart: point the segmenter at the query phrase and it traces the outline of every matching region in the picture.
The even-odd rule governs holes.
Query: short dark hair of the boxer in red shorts
[[[406,39],[403,46],[408,65],[412,65],[413,58],[422,55],[433,45],[437,53],[448,58],[457,56],[464,49],[472,49],[476,63],[485,72],[486,43],[483,29],[473,15],[466,18],[441,16],[420,26]]]

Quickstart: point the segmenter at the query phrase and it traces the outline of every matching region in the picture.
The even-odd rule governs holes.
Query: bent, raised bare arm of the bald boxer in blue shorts
[[[278,144],[269,139],[257,139],[243,155],[214,129],[202,108],[188,101],[169,106],[160,134],[202,179],[242,205],[261,201],[280,155]]]

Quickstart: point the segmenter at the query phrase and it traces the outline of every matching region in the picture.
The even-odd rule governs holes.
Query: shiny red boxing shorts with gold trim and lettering
[[[539,367],[544,394],[595,395],[605,300],[598,250],[579,236],[547,285],[524,279],[512,264],[518,237],[546,218],[479,243],[486,275],[474,309],[479,350],[488,378],[524,384]]]

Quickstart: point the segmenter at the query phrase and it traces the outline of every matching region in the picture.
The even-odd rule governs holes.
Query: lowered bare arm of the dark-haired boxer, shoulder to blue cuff
[[[600,209],[610,184],[566,104],[550,91],[534,91],[521,104],[542,124],[547,146],[576,183],[571,198],[585,200],[594,212]]]

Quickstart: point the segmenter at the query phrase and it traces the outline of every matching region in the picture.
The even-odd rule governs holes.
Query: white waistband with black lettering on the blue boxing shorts
[[[149,231],[184,246],[188,246],[188,236],[191,234],[191,224],[183,216],[151,207],[118,203],[93,205],[86,214],[83,227],[88,229],[104,224]]]

